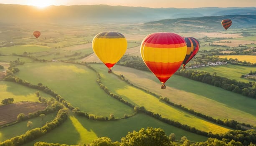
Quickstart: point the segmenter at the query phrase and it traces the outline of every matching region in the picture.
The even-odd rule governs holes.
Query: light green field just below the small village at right
[[[256,68],[253,66],[250,67],[250,66],[227,64],[227,65],[207,66],[207,67],[197,68],[196,70],[206,71],[210,74],[216,72],[217,76],[223,76],[231,80],[235,79],[236,81],[248,83],[249,81],[252,82],[252,80],[241,78],[241,76],[250,73],[251,70],[256,71]]]

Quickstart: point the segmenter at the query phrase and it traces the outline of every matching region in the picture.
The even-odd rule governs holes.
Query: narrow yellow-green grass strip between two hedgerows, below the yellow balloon
[[[159,113],[162,115],[162,117],[179,121],[182,124],[193,126],[202,131],[223,133],[230,130],[228,128],[200,119],[190,113],[186,113],[172,106],[168,106],[167,104],[160,102],[155,96],[145,93],[138,88],[129,86],[116,76],[108,74],[103,64],[93,64],[92,66],[101,74],[102,83],[107,86],[110,91],[117,93],[125,100],[137,106],[144,106],[147,110],[154,113]]]

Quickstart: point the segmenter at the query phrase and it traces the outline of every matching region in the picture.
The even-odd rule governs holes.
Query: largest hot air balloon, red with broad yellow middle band
[[[144,63],[162,83],[180,68],[187,52],[185,40],[175,33],[152,33],[147,35],[140,46]]]

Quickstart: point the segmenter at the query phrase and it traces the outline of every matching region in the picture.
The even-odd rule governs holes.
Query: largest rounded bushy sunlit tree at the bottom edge
[[[128,132],[121,138],[120,146],[170,146],[170,140],[161,128],[147,127],[139,132]]]

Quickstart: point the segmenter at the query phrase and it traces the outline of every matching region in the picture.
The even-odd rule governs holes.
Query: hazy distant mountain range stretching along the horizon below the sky
[[[163,19],[220,15],[256,15],[256,8],[145,8],[109,5],[62,5],[38,9],[28,5],[0,4],[0,23],[145,23]]]

